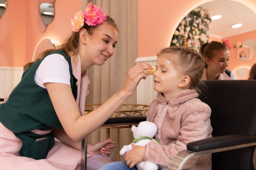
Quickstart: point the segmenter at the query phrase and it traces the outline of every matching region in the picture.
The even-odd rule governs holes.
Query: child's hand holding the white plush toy
[[[137,163],[144,160],[145,153],[146,153],[146,147],[144,146],[137,146],[134,144],[131,144],[133,147],[132,150],[125,153],[125,161],[128,167],[132,168]]]

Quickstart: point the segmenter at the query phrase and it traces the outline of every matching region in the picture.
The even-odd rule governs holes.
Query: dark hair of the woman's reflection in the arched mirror
[[[227,46],[223,43],[220,43],[218,41],[212,41],[210,43],[202,44],[199,53],[204,57],[208,57],[209,59],[212,59],[214,56],[214,53],[216,51],[220,50],[228,50]],[[207,64],[205,63],[205,68],[207,68]]]

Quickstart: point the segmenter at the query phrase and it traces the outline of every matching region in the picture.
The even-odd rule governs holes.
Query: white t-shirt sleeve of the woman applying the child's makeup
[[[60,54],[51,54],[44,58],[37,68],[36,84],[46,89],[45,83],[63,83],[70,86],[68,61]]]

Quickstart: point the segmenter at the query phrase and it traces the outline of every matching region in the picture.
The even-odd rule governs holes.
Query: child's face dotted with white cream
[[[167,96],[172,96],[180,91],[178,84],[182,76],[178,74],[177,70],[172,66],[171,60],[168,57],[172,54],[161,54],[157,57],[156,72],[154,72],[154,90]],[[167,101],[169,102],[169,101]]]

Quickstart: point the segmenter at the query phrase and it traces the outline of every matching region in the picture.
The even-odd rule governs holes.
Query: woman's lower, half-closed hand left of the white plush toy
[[[103,140],[101,142],[88,145],[88,153],[90,155],[103,155],[108,156],[111,154],[112,150],[115,147],[115,142],[111,139]]]

